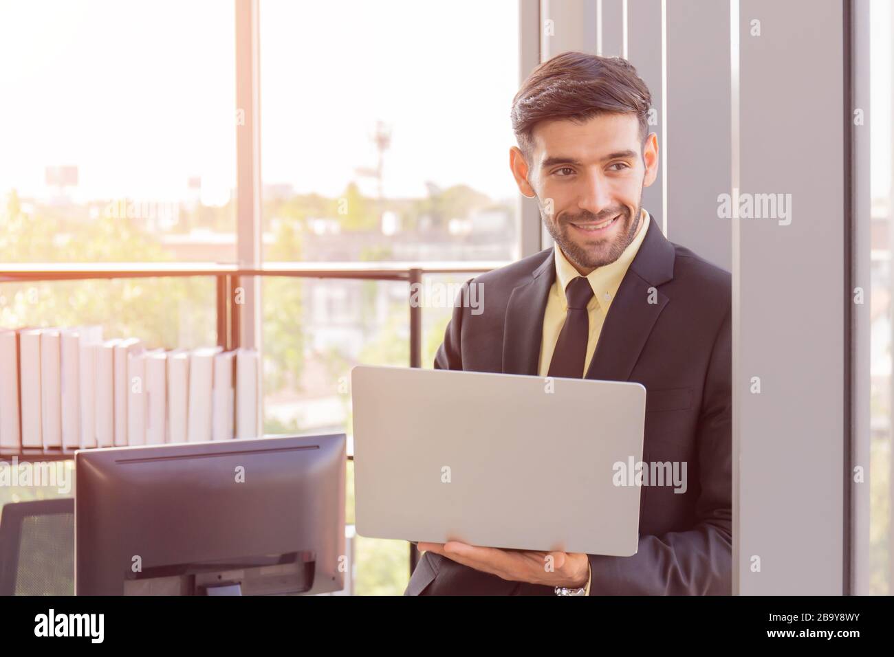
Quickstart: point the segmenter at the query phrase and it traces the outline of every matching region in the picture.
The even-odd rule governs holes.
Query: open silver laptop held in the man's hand
[[[639,383],[357,366],[359,535],[630,556]]]

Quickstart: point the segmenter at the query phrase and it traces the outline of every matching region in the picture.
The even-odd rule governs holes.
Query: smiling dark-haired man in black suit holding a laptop
[[[642,383],[643,460],[685,465],[685,492],[643,486],[631,557],[419,543],[405,594],[730,594],[730,274],[641,206],[658,171],[650,104],[620,58],[569,52],[532,72],[510,167],[555,244],[466,283],[484,312],[455,309],[434,366]]]

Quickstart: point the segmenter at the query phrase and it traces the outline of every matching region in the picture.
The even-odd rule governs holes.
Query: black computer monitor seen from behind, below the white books
[[[345,434],[75,452],[75,594],[344,585]]]

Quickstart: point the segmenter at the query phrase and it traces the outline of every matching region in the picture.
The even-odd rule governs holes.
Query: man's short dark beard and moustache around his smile
[[[580,269],[593,270],[596,267],[611,265],[621,257],[624,249],[628,248],[637,237],[643,205],[642,198],[640,198],[637,203],[637,212],[633,215],[625,206],[607,207],[598,215],[586,210],[577,215],[556,215],[554,221],[549,215],[544,214],[542,208],[540,214],[546,231],[550,233],[552,240],[559,245],[562,253],[568,257],[571,263]],[[620,225],[616,227],[614,236],[602,240],[598,238],[587,240],[586,237],[579,236],[578,230],[571,226],[571,223],[600,222],[618,215],[620,215],[618,218]],[[578,233],[578,235],[574,233]]]

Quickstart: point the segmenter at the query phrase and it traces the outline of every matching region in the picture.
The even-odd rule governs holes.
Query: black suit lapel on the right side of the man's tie
[[[586,371],[587,379],[627,381],[658,316],[668,304],[669,299],[658,286],[673,278],[674,247],[652,215],[649,221],[645,240],[611,301]]]

